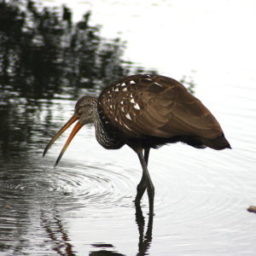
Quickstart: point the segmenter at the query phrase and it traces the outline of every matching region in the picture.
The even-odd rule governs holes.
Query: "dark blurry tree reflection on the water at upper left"
[[[90,11],[73,24],[67,7],[32,0],[0,3],[0,84],[26,97],[49,97],[69,88],[93,88],[128,73],[119,38],[100,36]],[[126,63],[127,64],[127,63]],[[67,90],[67,88],[66,88]]]

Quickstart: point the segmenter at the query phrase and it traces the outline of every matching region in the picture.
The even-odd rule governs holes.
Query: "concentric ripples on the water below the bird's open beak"
[[[0,190],[6,198],[23,198],[29,201],[44,199],[62,202],[76,201],[86,207],[111,208],[131,206],[137,181],[134,173],[118,166],[85,166],[82,162],[65,163],[49,170],[16,170],[11,177],[3,177]]]

